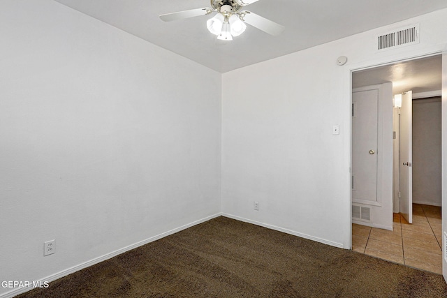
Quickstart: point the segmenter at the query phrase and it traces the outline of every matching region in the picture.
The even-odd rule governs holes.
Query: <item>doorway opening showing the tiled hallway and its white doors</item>
[[[435,55],[353,72],[351,149],[353,250],[439,274],[441,67]],[[409,111],[394,107],[397,94],[407,97]],[[362,113],[369,119],[359,119]]]

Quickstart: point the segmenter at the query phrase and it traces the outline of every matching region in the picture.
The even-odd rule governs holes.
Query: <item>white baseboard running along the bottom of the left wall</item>
[[[177,232],[180,232],[181,230],[185,230],[187,228],[191,228],[193,225],[198,225],[199,223],[205,223],[205,221],[210,221],[212,218],[217,218],[219,216],[221,216],[220,213],[214,214],[214,215],[211,215],[211,216],[207,216],[205,218],[199,219],[198,221],[193,221],[192,223],[188,223],[186,225],[182,225],[179,228],[175,228],[175,229],[170,230],[168,232],[164,232],[164,233],[158,234],[158,235],[156,235],[154,237],[150,237],[148,239],[139,241],[139,242],[137,242],[135,244],[131,244],[131,245],[126,246],[124,248],[120,248],[117,251],[112,251],[111,253],[107,253],[105,255],[101,255],[101,257],[94,258],[94,259],[89,260],[87,262],[84,262],[84,263],[82,263],[80,265],[76,265],[76,266],[73,266],[71,268],[59,271],[56,274],[52,274],[50,276],[42,278],[38,282],[43,283],[44,281],[47,281],[47,282],[55,281],[55,280],[57,280],[57,279],[59,279],[61,277],[67,276],[68,274],[72,274],[72,273],[74,273],[76,271],[79,271],[81,269],[85,269],[87,267],[90,267],[92,265],[95,265],[95,264],[98,264],[98,263],[103,262],[105,260],[108,260],[110,258],[113,258],[113,257],[115,257],[117,255],[125,253],[126,251],[131,251],[133,248],[137,248],[139,246],[143,246],[143,245],[148,244],[150,242],[153,242],[153,241],[159,240],[159,239],[161,239],[163,237],[169,236],[170,234],[175,234]],[[5,292],[5,293],[1,294],[0,298],[11,298],[11,297],[14,297],[16,295],[22,294],[23,292],[27,292],[29,290],[33,290],[33,288],[16,288],[14,290],[10,290],[9,292]]]

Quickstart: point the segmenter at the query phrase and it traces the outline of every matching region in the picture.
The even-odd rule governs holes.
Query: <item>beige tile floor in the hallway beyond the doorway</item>
[[[393,231],[352,225],[352,249],[442,274],[441,207],[413,204],[413,223],[393,214]]]

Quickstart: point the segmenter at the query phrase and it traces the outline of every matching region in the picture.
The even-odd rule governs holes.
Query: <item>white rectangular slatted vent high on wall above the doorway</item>
[[[377,50],[395,49],[419,43],[419,27],[419,24],[413,24],[377,36]]]

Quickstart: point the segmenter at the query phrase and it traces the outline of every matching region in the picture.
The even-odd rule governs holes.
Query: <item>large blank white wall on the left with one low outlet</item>
[[[0,36],[0,281],[219,214],[221,74],[51,0]]]

